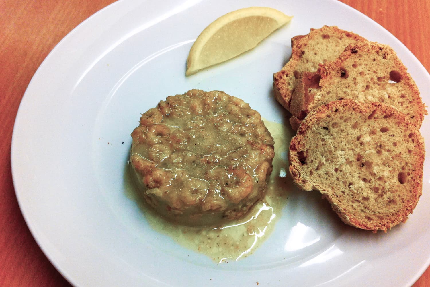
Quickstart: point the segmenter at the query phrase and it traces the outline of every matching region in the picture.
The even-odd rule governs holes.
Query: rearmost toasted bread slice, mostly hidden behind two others
[[[289,111],[295,82],[301,72],[315,72],[319,63],[334,61],[346,46],[357,41],[366,39],[336,26],[311,28],[309,34],[293,37],[289,62],[273,75],[276,100]]]

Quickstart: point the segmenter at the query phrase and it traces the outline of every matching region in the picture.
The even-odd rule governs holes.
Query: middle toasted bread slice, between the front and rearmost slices
[[[304,72],[292,95],[292,127],[309,111],[338,99],[383,102],[406,114],[421,127],[427,114],[420,92],[405,65],[390,46],[367,42],[347,46],[332,62],[319,65],[316,72]]]

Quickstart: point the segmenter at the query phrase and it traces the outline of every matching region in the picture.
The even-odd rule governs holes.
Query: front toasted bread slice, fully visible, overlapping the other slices
[[[343,222],[387,231],[407,219],[421,196],[424,141],[390,106],[334,101],[302,121],[289,162],[294,182],[321,192]]]

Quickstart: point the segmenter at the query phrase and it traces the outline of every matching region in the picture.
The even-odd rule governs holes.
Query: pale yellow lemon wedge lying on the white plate
[[[254,48],[292,19],[269,7],[249,7],[227,13],[197,37],[187,58],[187,76]]]

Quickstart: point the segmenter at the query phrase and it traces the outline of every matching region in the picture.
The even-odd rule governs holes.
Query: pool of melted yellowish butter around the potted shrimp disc
[[[292,132],[282,123],[264,120],[275,141],[273,172],[264,198],[242,219],[220,227],[191,227],[166,221],[142,203],[144,216],[155,231],[168,235],[179,245],[203,253],[217,263],[237,261],[250,255],[269,237],[286,204],[291,181],[287,179],[287,152]],[[129,194],[138,198],[136,194]]]

